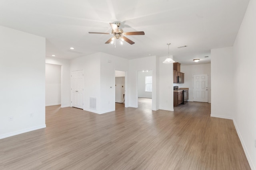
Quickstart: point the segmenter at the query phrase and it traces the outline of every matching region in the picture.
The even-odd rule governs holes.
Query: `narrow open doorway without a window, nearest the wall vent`
[[[115,70],[115,103],[125,107],[125,71]]]

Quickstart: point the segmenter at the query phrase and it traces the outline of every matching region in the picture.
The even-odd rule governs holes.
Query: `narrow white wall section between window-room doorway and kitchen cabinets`
[[[173,109],[173,64],[164,64],[166,57],[159,58],[159,107],[162,110]]]

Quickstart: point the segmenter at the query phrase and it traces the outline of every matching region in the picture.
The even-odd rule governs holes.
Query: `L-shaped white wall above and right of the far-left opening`
[[[61,65],[61,107],[70,107],[71,82],[70,82],[70,61],[56,57],[46,57],[45,63]]]

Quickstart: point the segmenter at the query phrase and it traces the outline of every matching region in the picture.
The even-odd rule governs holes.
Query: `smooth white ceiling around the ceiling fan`
[[[0,0],[0,25],[46,37],[46,56],[74,59],[103,52],[126,59],[170,55],[210,63],[210,49],[232,46],[249,0]],[[121,23],[134,45],[105,44]],[[186,48],[177,47],[187,45]],[[70,50],[74,47],[74,50]],[[205,56],[209,56],[205,58]]]

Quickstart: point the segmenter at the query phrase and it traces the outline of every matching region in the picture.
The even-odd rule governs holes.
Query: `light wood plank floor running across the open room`
[[[250,169],[232,120],[210,117],[210,104],[143,105],[102,115],[48,106],[46,128],[0,140],[0,169]]]

